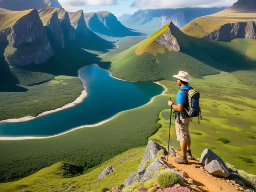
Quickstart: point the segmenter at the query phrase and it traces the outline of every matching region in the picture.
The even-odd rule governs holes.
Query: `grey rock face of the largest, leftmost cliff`
[[[9,14],[8,11],[5,14]],[[10,17],[15,18],[15,14],[12,12]],[[36,9],[2,29],[0,36],[0,41],[8,43],[4,56],[9,65],[40,64],[54,55]]]

